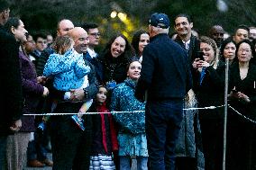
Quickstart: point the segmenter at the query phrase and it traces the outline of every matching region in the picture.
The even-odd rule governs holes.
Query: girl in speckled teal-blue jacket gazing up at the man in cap
[[[118,124],[118,143],[120,169],[131,169],[131,157],[137,159],[137,169],[147,170],[148,149],[145,133],[145,103],[139,102],[134,97],[137,80],[141,76],[142,64],[138,59],[132,59],[127,67],[127,78],[122,84],[114,88],[111,97],[111,111],[114,121]]]

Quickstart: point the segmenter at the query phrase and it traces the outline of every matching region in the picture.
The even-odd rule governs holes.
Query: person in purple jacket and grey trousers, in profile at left
[[[14,34],[14,38],[20,43],[26,41],[27,31],[23,22],[18,18],[10,18],[5,23],[6,31]],[[41,96],[47,96],[49,90],[40,85],[41,77],[37,78],[35,67],[28,56],[23,53],[22,46],[19,51],[20,69],[23,88],[23,114],[33,114]],[[34,131],[34,116],[22,116],[23,126],[21,130],[7,139],[6,155],[7,169],[23,169],[26,150],[30,139],[30,132]]]

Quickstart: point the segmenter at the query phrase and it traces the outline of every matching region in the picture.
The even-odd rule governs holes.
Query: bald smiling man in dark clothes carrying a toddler
[[[67,32],[74,40],[74,49],[79,54],[87,52],[88,35],[87,31],[75,27]],[[96,96],[98,85],[94,67],[85,59],[87,66],[91,67],[87,75],[89,86],[84,89],[71,91],[70,101],[64,101],[65,92],[54,92],[54,98],[60,101],[54,112],[78,113],[84,101],[93,99]],[[87,170],[89,169],[90,148],[92,143],[92,118],[91,115],[84,116],[86,130],[80,130],[70,121],[70,115],[52,116],[50,121],[50,139],[54,170]],[[60,141],[60,142],[59,142]]]

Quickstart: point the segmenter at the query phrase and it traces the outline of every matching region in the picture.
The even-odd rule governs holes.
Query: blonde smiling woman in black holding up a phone
[[[224,81],[217,68],[217,46],[215,40],[202,36],[200,49],[204,60],[195,60],[193,67],[194,91],[197,96],[198,107],[221,106],[224,104]],[[222,169],[223,156],[223,114],[224,107],[214,110],[199,110],[199,121],[202,130],[202,142],[207,170]]]

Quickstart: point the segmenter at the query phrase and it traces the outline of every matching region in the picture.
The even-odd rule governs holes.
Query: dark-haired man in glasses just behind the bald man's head
[[[91,62],[92,58],[96,58],[98,56],[95,51],[95,48],[98,46],[100,40],[98,25],[96,23],[84,22],[81,27],[88,33],[89,42],[87,46],[86,58]]]

